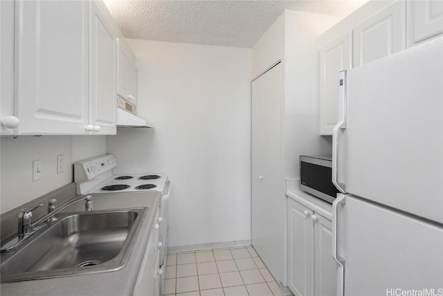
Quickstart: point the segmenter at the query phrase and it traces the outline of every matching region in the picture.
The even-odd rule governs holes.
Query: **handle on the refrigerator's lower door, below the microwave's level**
[[[338,255],[337,214],[338,206],[346,203],[346,195],[338,193],[336,200],[332,203],[332,256],[338,263],[337,295],[345,295],[345,260]]]

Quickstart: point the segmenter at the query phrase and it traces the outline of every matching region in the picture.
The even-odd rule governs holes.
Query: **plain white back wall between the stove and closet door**
[[[128,43],[138,114],[155,128],[107,137],[114,172],[168,174],[171,247],[250,239],[251,50]]]

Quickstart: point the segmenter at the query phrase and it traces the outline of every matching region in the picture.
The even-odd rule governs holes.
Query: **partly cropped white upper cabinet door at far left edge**
[[[0,120],[14,115],[14,1],[0,1]],[[1,135],[12,134],[12,128],[0,125]]]

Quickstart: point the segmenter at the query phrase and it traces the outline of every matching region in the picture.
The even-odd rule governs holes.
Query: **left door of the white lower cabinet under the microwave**
[[[296,296],[314,294],[312,214],[311,209],[288,198],[288,284]]]

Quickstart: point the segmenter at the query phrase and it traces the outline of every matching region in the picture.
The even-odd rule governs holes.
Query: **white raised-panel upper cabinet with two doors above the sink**
[[[95,1],[15,1],[15,134],[116,134],[109,27]]]

